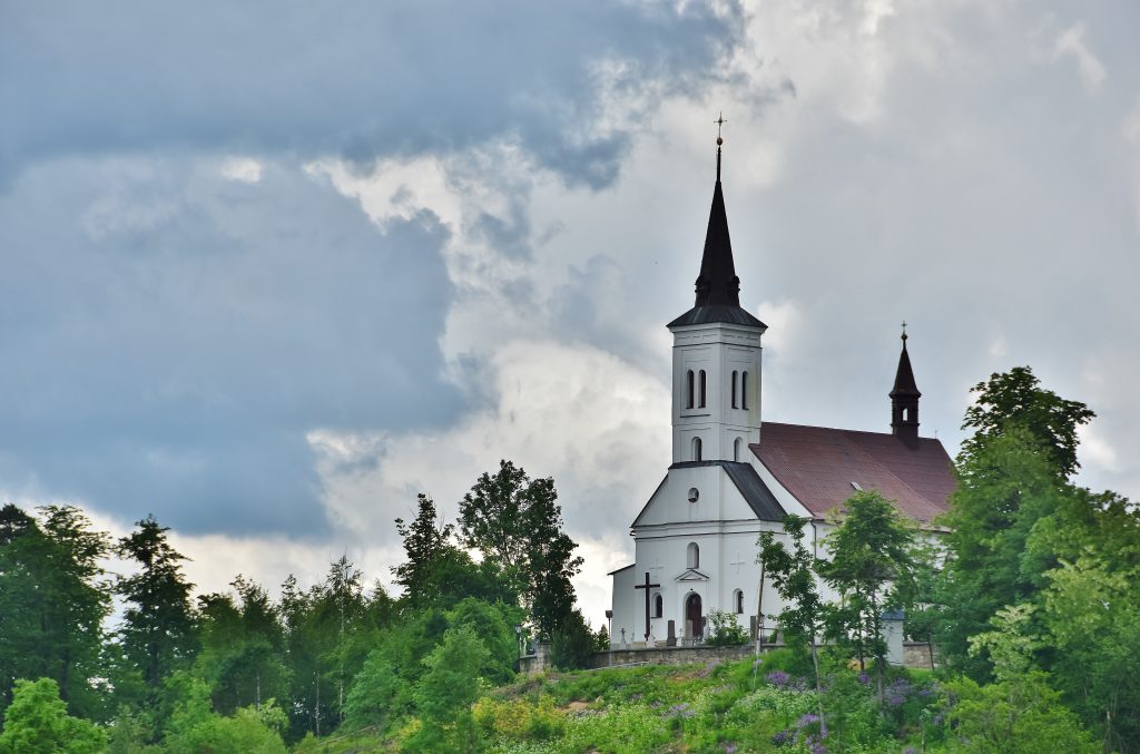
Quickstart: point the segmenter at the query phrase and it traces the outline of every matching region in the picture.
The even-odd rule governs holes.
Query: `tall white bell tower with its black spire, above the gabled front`
[[[722,121],[723,122],[723,121]],[[760,441],[760,335],[767,326],[740,306],[720,186],[709,211],[693,308],[669,323],[673,333],[673,462],[746,461]]]

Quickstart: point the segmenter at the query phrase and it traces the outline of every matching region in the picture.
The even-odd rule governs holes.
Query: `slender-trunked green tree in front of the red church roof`
[[[830,611],[829,633],[849,642],[860,667],[873,657],[879,700],[887,642],[882,613],[909,607],[914,594],[914,530],[877,492],[858,492],[844,503],[845,514],[826,538],[831,559],[821,561],[823,578],[840,594]]]

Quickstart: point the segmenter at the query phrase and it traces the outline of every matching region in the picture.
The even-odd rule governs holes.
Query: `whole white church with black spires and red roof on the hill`
[[[717,145],[697,300],[668,324],[673,460],[630,525],[634,562],[610,574],[614,647],[646,646],[646,637],[648,646],[700,642],[712,610],[735,615],[746,630],[760,625],[771,632],[773,622],[755,616],[779,615],[783,606],[771,583],[758,603],[760,532],[782,532],[789,513],[809,518],[808,544],[822,554],[829,513],[857,490],[878,490],[929,525],[954,489],[942,443],[919,437],[921,394],[905,332],[889,394],[890,432],[762,421],[760,340],[767,327],[740,306],[719,138]]]

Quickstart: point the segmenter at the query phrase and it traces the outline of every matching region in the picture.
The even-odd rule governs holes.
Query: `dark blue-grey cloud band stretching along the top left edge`
[[[516,136],[571,183],[616,175],[635,112],[692,88],[738,40],[701,3],[72,2],[0,10],[0,178],[46,155],[206,147],[301,156]],[[600,74],[602,60],[620,72]],[[602,81],[604,79],[604,81]]]

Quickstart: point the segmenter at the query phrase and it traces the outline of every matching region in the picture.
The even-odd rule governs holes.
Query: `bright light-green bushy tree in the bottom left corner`
[[[95,754],[104,746],[103,730],[67,714],[54,680],[16,681],[0,733],[0,754]]]

